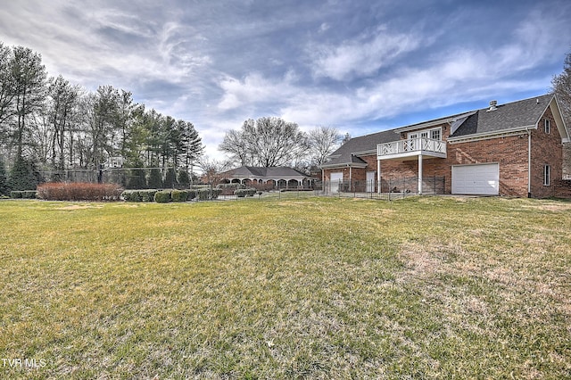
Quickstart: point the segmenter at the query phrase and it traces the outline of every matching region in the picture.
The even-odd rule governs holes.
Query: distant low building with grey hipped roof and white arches
[[[278,188],[309,188],[313,185],[310,176],[296,169],[287,167],[262,168],[254,166],[241,166],[219,173],[219,178],[228,179],[246,186],[272,186]]]

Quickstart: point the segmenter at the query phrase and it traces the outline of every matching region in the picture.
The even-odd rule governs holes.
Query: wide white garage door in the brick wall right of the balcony
[[[500,194],[500,164],[452,166],[452,194]]]

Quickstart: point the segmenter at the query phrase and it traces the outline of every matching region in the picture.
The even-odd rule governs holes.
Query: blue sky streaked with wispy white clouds
[[[0,41],[192,122],[223,160],[247,119],[362,136],[546,94],[571,53],[571,2],[0,0]]]

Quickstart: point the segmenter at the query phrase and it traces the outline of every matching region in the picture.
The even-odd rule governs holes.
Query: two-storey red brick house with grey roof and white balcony
[[[387,183],[418,178],[408,191],[423,194],[426,178],[438,177],[445,194],[571,196],[569,142],[557,97],[542,95],[352,138],[321,169],[334,191],[356,181],[393,191]]]

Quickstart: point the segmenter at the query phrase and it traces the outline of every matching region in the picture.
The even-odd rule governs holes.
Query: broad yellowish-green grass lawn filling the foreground
[[[0,237],[0,378],[571,377],[571,202],[2,201]]]

